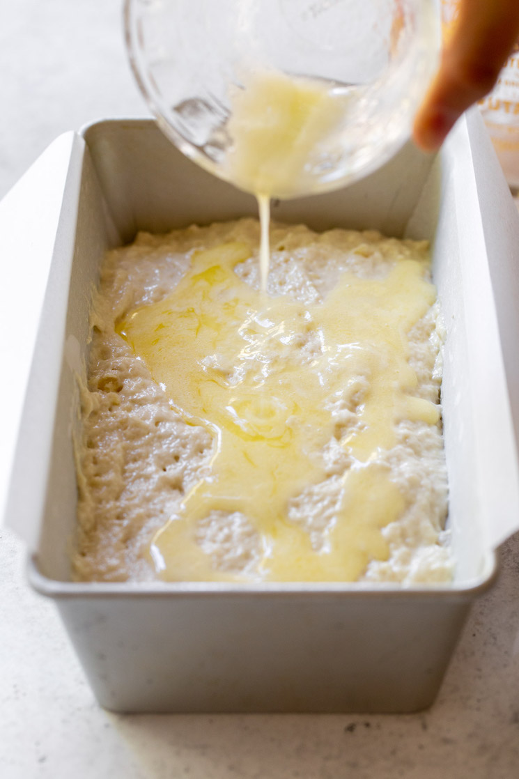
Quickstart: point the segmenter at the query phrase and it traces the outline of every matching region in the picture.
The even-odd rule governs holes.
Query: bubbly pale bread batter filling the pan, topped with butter
[[[94,301],[83,580],[445,582],[427,245],[256,220],[139,234]]]

